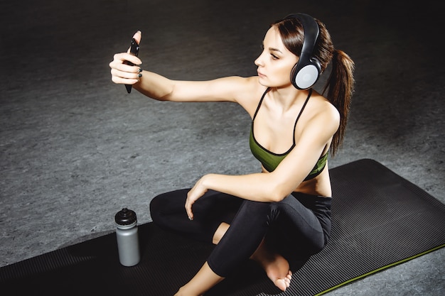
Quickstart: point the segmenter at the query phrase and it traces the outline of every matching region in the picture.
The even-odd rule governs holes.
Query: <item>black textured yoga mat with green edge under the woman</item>
[[[207,295],[321,295],[445,246],[445,205],[375,160],[331,169],[333,232],[286,292],[247,261]],[[114,233],[0,268],[5,295],[173,295],[213,246],[139,226],[142,259],[119,264]],[[303,261],[302,261],[303,262]]]

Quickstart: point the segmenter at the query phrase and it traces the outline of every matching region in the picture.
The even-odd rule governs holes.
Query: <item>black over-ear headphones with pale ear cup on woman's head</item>
[[[304,40],[299,61],[291,70],[291,83],[297,89],[309,89],[321,74],[320,61],[313,57],[313,48],[318,39],[318,23],[312,16],[305,13],[289,14],[284,19],[297,18],[304,29]]]

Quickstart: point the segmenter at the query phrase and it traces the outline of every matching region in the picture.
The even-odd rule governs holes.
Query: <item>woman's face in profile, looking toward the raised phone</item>
[[[278,29],[272,26],[263,40],[263,51],[255,60],[258,66],[259,83],[266,87],[291,85],[291,70],[299,57],[284,46]]]

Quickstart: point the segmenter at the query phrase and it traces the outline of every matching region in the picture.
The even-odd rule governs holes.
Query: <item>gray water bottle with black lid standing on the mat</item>
[[[116,222],[119,262],[124,266],[136,265],[141,258],[136,213],[131,209],[123,208],[114,216],[114,221]]]

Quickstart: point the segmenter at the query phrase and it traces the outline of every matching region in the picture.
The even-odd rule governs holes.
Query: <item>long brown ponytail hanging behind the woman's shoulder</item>
[[[354,62],[341,50],[333,50],[332,70],[323,89],[323,95],[328,89],[327,99],[340,113],[340,126],[333,136],[331,143],[331,155],[335,155],[337,149],[343,143],[346,123],[350,109],[350,101],[354,89]]]

